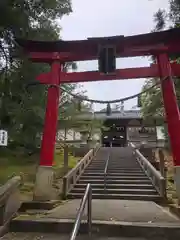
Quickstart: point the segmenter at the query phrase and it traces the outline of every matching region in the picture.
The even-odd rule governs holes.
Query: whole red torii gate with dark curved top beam
[[[51,65],[50,72],[37,76],[38,81],[49,84],[50,87],[48,89],[40,167],[36,180],[36,197],[48,199],[50,195],[51,181],[45,180],[45,178],[51,179],[52,173],[60,84],[160,77],[161,79],[166,78],[165,81],[161,82],[161,88],[176,171],[177,192],[180,198],[180,114],[172,80],[173,76],[180,77],[180,65],[169,61],[169,56],[180,53],[180,29],[128,37],[115,36],[78,41],[46,42],[17,39],[17,42],[24,48],[29,59],[33,62],[43,62]],[[118,69],[114,74],[106,75],[98,71],[63,72],[65,62],[97,59],[100,45],[114,46],[116,57],[153,55],[156,58],[156,64],[152,64],[150,67]]]

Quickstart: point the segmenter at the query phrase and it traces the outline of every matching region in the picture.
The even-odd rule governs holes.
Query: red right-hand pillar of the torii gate
[[[180,203],[180,113],[169,57],[166,53],[161,53],[157,56],[157,61],[162,79],[161,89],[174,160],[176,192]],[[166,79],[163,80],[164,78]]]

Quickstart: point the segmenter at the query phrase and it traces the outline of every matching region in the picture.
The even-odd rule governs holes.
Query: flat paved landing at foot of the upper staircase
[[[71,200],[49,211],[45,218],[74,219],[80,200]],[[86,219],[86,213],[83,216]],[[92,218],[102,221],[180,223],[168,210],[154,202],[130,200],[92,200]]]

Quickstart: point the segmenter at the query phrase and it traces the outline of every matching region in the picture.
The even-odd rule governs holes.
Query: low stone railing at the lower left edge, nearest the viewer
[[[18,211],[21,177],[15,176],[0,187],[0,226],[6,225]]]

